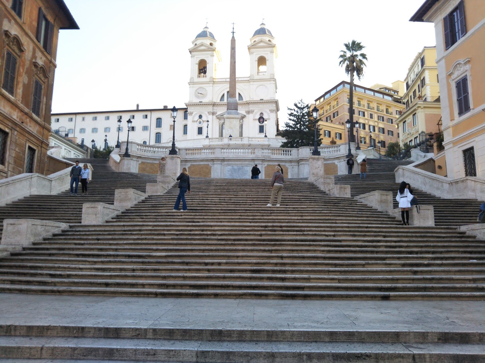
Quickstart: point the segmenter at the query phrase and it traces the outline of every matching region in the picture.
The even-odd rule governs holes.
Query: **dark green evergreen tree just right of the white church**
[[[285,122],[285,129],[281,136],[286,141],[281,144],[282,148],[300,148],[302,146],[313,146],[315,142],[314,120],[310,113],[310,105],[303,100],[295,102],[293,108],[288,107],[288,122]],[[320,119],[317,119],[317,124]],[[322,144],[320,132],[317,130],[317,145]]]

